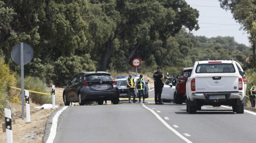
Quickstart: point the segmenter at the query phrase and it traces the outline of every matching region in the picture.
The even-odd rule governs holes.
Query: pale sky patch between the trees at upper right
[[[198,23],[200,29],[192,33],[195,36],[207,38],[231,36],[239,44],[249,46],[248,34],[239,30],[241,25],[236,23],[230,11],[221,8],[218,0],[185,0],[188,5],[199,11]]]

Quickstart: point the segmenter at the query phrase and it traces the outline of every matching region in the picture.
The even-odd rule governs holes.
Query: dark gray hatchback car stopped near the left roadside
[[[113,104],[119,102],[116,81],[108,72],[80,72],[70,82],[65,81],[65,84],[68,84],[63,91],[65,105],[70,102],[79,102],[79,105],[91,101],[97,101],[99,105],[106,100],[111,100]]]

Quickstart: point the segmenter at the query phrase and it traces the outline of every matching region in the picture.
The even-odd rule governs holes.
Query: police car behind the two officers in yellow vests
[[[119,89],[119,93],[120,93],[120,96],[119,98],[128,98],[128,90],[127,90],[127,84],[126,84],[126,80],[129,76],[120,76],[120,77],[116,77],[116,85]],[[139,75],[133,75],[133,78],[135,78],[135,81],[137,81],[137,79],[139,78],[140,76]],[[144,79],[145,80],[145,79]],[[149,90],[149,87],[150,85],[149,84],[149,78],[148,78],[148,81],[145,82],[145,98],[148,98],[148,90]],[[136,88],[136,91],[137,91],[137,96],[136,98],[138,97],[138,90]],[[131,93],[132,96],[133,96],[133,93]],[[132,98],[132,97],[131,97]]]

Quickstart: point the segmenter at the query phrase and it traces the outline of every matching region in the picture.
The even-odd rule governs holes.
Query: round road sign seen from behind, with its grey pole
[[[24,120],[24,65],[33,58],[33,49],[26,43],[16,44],[11,51],[12,60],[20,65],[21,70],[21,92],[22,92],[22,120]]]

